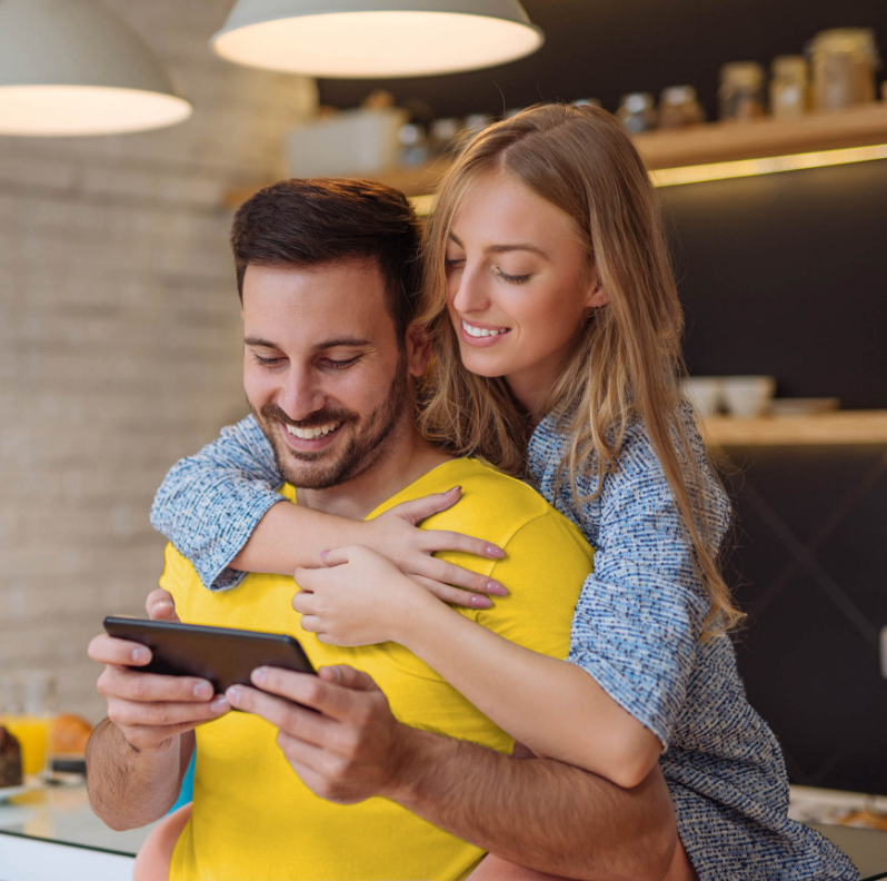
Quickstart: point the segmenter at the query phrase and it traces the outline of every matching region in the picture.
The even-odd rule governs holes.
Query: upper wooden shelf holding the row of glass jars
[[[651,171],[845,147],[869,147],[887,143],[887,106],[873,103],[830,113],[810,113],[791,121],[765,118],[748,123],[709,122],[692,129],[637,135],[635,143]],[[448,167],[446,160],[438,159],[425,166],[393,168],[355,177],[371,177],[402,190],[407,196],[426,196],[437,189]],[[260,187],[230,190],[226,205],[237,208],[258,189]]]

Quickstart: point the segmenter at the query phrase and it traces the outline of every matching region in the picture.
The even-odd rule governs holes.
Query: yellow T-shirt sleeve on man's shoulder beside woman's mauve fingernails
[[[511,642],[566,660],[570,626],[594,551],[581,533],[557,512],[518,529],[504,548],[491,575],[509,591],[491,608],[471,617]]]

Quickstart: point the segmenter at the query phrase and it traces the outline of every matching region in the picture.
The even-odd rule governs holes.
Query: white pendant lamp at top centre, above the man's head
[[[502,65],[544,42],[518,0],[238,0],[210,46],[312,77],[420,77]]]

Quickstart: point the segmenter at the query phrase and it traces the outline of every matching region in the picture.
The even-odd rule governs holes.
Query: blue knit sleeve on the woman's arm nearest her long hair
[[[717,545],[729,505],[707,467],[704,473],[708,532]],[[667,749],[711,604],[644,433],[624,448],[599,502],[595,572],[576,608],[569,660]]]

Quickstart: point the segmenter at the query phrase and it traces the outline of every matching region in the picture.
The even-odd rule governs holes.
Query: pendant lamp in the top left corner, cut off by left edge
[[[151,50],[90,0],[0,0],[0,135],[112,135],[190,115]]]

